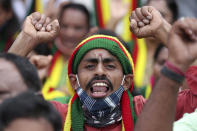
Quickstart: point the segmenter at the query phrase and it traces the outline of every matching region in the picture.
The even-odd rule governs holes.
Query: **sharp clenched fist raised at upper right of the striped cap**
[[[163,43],[171,25],[152,6],[137,8],[130,16],[130,30],[138,38],[154,37]]]

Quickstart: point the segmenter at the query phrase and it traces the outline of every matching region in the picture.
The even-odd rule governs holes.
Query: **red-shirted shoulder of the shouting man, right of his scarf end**
[[[133,98],[133,107],[137,116],[139,116],[139,114],[141,113],[145,102],[146,99],[142,95],[138,95]]]

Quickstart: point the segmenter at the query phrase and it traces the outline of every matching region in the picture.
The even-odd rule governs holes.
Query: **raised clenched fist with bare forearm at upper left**
[[[23,29],[9,49],[9,53],[27,56],[39,43],[52,41],[59,32],[58,20],[38,12],[32,13],[24,22]]]

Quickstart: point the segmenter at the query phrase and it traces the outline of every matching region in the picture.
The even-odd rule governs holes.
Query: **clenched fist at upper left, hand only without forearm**
[[[28,16],[24,22],[22,32],[35,40],[36,43],[53,40],[59,32],[58,20],[51,21],[44,14],[35,12]]]

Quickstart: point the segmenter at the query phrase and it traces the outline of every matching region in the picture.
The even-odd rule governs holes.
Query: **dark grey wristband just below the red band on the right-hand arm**
[[[183,82],[183,80],[185,78],[184,75],[180,75],[177,72],[170,70],[166,66],[164,66],[161,69],[161,74],[164,75],[164,76],[166,76],[167,78],[173,80],[173,81],[176,81],[177,83],[180,83],[180,84]]]

